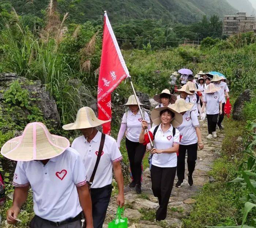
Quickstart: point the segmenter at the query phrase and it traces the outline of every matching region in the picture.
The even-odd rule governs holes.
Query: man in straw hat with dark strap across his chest
[[[96,129],[97,126],[109,121],[99,120],[90,107],[83,107],[78,110],[74,123],[63,126],[65,130],[79,129],[82,133],[82,136],[74,140],[71,147],[79,152],[87,168],[94,228],[102,228],[105,220],[112,192],[112,169],[119,189],[117,205],[120,207],[124,205],[124,180],[120,165],[123,157],[116,140]]]

